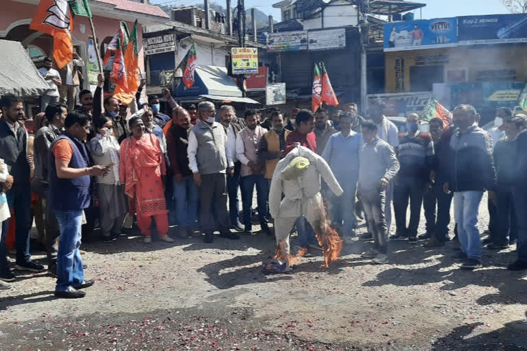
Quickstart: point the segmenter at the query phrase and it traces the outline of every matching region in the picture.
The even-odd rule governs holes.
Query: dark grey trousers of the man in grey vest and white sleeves
[[[205,234],[229,230],[227,178],[225,173],[201,175],[200,225]]]

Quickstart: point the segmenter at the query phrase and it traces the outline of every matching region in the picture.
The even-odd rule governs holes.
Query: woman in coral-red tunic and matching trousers
[[[121,182],[124,191],[135,199],[137,226],[143,234],[144,242],[151,243],[150,225],[156,221],[159,239],[173,243],[168,237],[167,204],[163,189],[166,174],[165,158],[154,134],[145,132],[141,118],[134,117],[128,122],[132,136],[121,144]]]

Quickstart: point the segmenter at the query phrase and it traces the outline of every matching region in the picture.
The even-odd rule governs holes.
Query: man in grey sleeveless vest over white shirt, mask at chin
[[[200,224],[205,243],[212,243],[216,228],[219,228],[222,237],[239,239],[229,230],[227,215],[226,173],[234,173],[234,162],[227,150],[227,135],[223,126],[215,121],[215,114],[213,103],[200,102],[200,121],[192,127],[187,147],[189,167],[194,182],[200,187]]]

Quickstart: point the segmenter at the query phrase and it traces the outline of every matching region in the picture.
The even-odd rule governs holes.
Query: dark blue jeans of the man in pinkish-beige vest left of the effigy
[[[253,226],[251,221],[251,210],[253,206],[253,192],[257,193],[258,202],[258,219],[260,224],[266,223],[267,213],[267,198],[269,189],[267,187],[267,180],[263,174],[251,174],[242,177],[239,181],[239,186],[242,189],[242,203],[244,206],[244,225],[246,230],[250,230]]]

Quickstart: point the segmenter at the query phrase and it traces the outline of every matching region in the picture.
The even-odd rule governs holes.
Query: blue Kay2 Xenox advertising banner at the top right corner
[[[460,45],[527,43],[525,14],[458,17]]]

